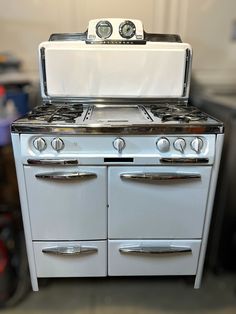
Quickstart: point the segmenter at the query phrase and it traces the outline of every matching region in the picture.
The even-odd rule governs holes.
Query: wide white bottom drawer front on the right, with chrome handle
[[[109,240],[108,275],[194,275],[200,240]]]

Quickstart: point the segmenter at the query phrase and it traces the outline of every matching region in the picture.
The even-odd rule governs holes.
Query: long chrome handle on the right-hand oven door
[[[170,180],[189,180],[200,179],[199,173],[152,173],[152,172],[133,172],[122,173],[120,175],[125,180],[137,181],[170,181]]]

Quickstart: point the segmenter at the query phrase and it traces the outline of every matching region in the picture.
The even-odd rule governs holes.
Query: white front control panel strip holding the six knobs
[[[25,160],[58,158],[75,159],[78,164],[104,164],[117,162],[132,164],[157,164],[161,159],[209,160],[215,156],[214,134],[195,135],[21,135],[21,151]],[[187,160],[188,159],[188,160]],[[189,162],[188,162],[189,163]]]

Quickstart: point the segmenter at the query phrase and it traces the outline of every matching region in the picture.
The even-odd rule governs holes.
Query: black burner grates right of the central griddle
[[[162,122],[180,121],[193,122],[207,120],[207,115],[195,107],[187,105],[170,105],[165,104],[160,106],[153,106],[151,113],[161,119]]]

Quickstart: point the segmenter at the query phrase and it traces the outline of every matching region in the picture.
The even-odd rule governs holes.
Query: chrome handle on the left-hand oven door
[[[96,178],[97,174],[93,172],[47,172],[35,175],[38,179],[51,180],[83,180]]]

